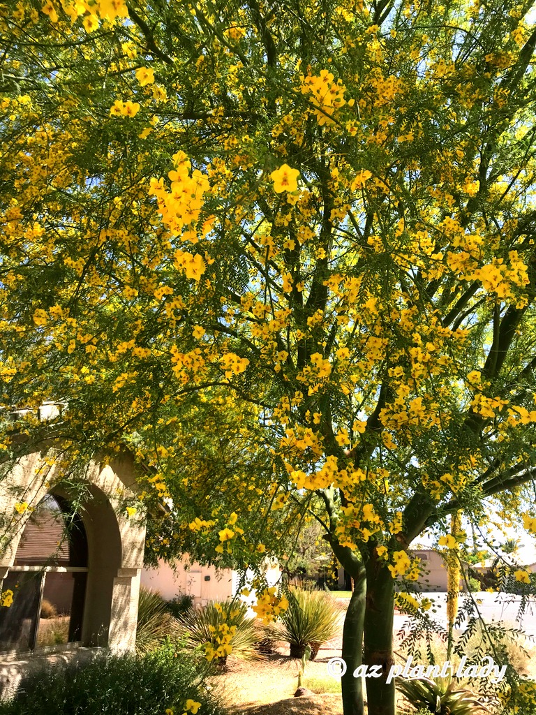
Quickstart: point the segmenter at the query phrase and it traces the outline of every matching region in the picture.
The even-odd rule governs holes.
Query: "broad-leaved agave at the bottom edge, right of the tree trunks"
[[[415,678],[397,680],[397,688],[417,709],[434,715],[475,715],[489,712],[467,689],[456,689],[452,678]]]

